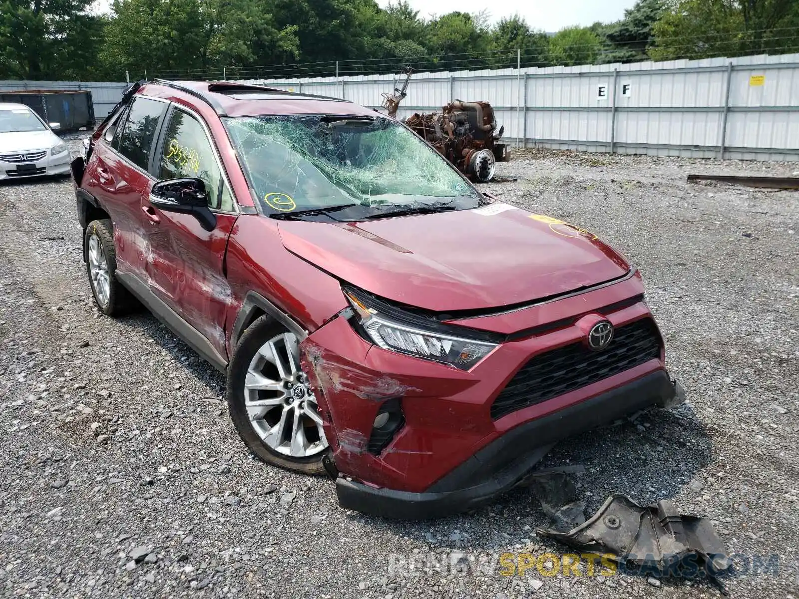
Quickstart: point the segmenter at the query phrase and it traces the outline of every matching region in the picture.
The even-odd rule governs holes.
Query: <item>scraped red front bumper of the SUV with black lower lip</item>
[[[618,302],[602,292],[591,296],[580,298],[583,305]],[[582,324],[592,315],[499,343],[468,371],[376,347],[344,314],[316,329],[300,344],[300,354],[332,448],[328,472],[340,473],[340,505],[406,519],[468,510],[523,482],[560,439],[652,406],[682,403],[685,395],[666,372],[649,308],[642,301],[626,304],[597,310],[616,327],[618,343],[627,339],[631,351],[642,351],[640,359],[615,352],[622,355],[620,367],[608,370],[618,355],[585,350],[589,362],[573,363],[570,372],[578,374],[568,384],[556,375],[545,381],[530,366],[582,347]],[[570,317],[550,308],[551,320]],[[533,317],[515,315],[519,321]],[[581,366],[598,374],[586,378]],[[527,377],[522,383],[520,375]],[[528,401],[546,385],[550,395]]]

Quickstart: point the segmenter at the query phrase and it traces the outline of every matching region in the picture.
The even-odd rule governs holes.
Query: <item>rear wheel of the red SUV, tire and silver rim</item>
[[[117,281],[117,248],[113,244],[110,220],[92,220],[83,234],[86,274],[97,309],[106,316],[121,316],[134,311],[139,303]]]

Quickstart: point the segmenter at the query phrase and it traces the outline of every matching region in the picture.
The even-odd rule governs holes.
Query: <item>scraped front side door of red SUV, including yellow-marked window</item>
[[[149,283],[164,300],[209,340],[222,356],[225,314],[231,292],[225,277],[225,249],[237,219],[221,162],[201,117],[172,106],[157,147],[158,180],[197,177],[205,183],[216,226],[206,231],[191,214],[161,211],[141,198],[149,220]]]

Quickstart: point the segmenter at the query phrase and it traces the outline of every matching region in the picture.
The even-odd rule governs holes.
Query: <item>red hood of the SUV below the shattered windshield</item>
[[[497,202],[380,220],[280,220],[289,252],[350,284],[435,311],[502,307],[613,280],[630,265],[592,233]]]

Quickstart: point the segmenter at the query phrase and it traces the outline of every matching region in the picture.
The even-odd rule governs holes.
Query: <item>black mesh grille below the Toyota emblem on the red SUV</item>
[[[658,358],[660,345],[654,320],[646,318],[618,327],[602,351],[591,351],[578,341],[536,355],[494,400],[491,418],[502,418]]]

